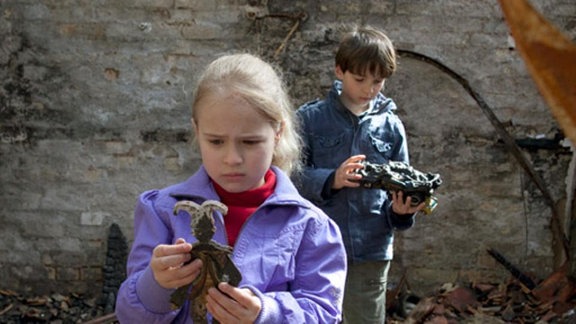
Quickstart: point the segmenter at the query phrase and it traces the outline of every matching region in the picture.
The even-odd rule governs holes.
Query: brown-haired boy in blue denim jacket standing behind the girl
[[[338,80],[328,96],[298,110],[305,158],[298,189],[336,221],[346,247],[344,323],[385,322],[393,231],[410,228],[424,207],[411,207],[401,191],[390,200],[386,191],[361,188],[358,182],[363,160],[409,160],[396,105],[380,93],[395,69],[388,37],[372,27],[356,28],[340,43]]]

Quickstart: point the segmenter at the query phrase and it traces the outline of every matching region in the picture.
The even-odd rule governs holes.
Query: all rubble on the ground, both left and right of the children
[[[404,274],[386,295],[387,324],[576,323],[576,280],[567,266],[538,280],[495,250],[511,273],[508,282],[444,284],[431,296],[410,293]],[[117,324],[113,310],[97,298],[52,294],[22,296],[0,289],[0,323]]]

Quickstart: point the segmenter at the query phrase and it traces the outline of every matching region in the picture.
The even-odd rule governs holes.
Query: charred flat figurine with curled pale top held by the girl
[[[187,298],[190,299],[190,316],[194,323],[208,323],[206,316],[208,288],[218,288],[220,282],[228,282],[237,286],[242,280],[240,271],[230,259],[232,248],[212,240],[216,232],[212,213],[217,210],[226,214],[228,207],[215,200],[207,200],[202,205],[183,200],[174,206],[174,215],[177,215],[180,210],[185,210],[190,214],[192,234],[198,239],[198,242],[192,244],[191,260],[199,258],[202,260],[203,266],[202,271],[192,283],[180,287],[172,293],[170,302],[172,307],[176,309],[182,307]],[[191,290],[190,287],[192,287]]]

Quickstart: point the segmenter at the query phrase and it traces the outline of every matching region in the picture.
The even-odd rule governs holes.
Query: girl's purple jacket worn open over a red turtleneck
[[[261,300],[256,323],[338,323],[346,277],[346,252],[338,226],[302,198],[289,178],[272,167],[274,193],[244,224],[232,259],[240,287]],[[128,257],[128,278],[118,291],[116,315],[121,323],[192,323],[189,302],[170,309],[173,289],[155,281],[149,261],[158,244],[177,238],[194,243],[190,217],[173,215],[178,199],[201,204],[220,200],[201,167],[187,181],[140,195],[134,219],[135,238]],[[222,215],[213,239],[227,244]]]

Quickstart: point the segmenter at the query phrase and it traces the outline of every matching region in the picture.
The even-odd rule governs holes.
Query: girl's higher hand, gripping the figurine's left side
[[[190,261],[192,245],[179,238],[175,244],[160,244],[154,248],[150,268],[158,284],[167,289],[185,286],[200,273],[202,261]]]

